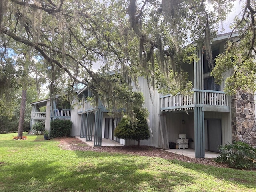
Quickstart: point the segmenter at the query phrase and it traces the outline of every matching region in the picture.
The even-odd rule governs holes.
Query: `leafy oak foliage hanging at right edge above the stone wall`
[[[226,51],[216,59],[216,67],[212,75],[220,84],[223,72],[231,71],[226,78],[224,91],[234,94],[236,88],[256,91],[256,2],[247,0],[240,15],[234,19],[233,32],[239,32],[239,37],[230,35]]]

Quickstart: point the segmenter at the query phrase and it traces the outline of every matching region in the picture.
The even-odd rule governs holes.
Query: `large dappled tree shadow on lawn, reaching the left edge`
[[[39,160],[30,164],[8,163],[1,167],[10,177],[1,180],[8,186],[24,185],[28,191],[35,188],[43,191],[166,191],[180,185],[186,178],[192,183],[194,178],[177,172],[150,172],[149,162],[138,162],[126,155],[86,152],[78,165],[66,166],[62,162]],[[99,159],[97,161],[97,159]],[[90,162],[89,159],[94,159]],[[6,185],[6,186],[7,186]],[[169,190],[168,190],[169,191]]]

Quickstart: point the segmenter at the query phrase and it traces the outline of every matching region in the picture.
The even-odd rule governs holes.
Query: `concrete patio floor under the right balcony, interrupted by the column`
[[[194,149],[166,149],[164,151],[183,155],[186,157],[195,158],[195,150]],[[214,152],[210,152],[210,151],[204,152],[204,158],[216,158],[218,155],[219,155],[219,153],[214,153]]]

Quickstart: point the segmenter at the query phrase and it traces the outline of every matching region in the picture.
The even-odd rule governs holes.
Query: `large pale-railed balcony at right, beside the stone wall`
[[[230,111],[228,96],[222,91],[192,90],[190,95],[166,95],[160,97],[160,110],[182,111],[193,110],[194,107],[203,107],[205,111]]]

